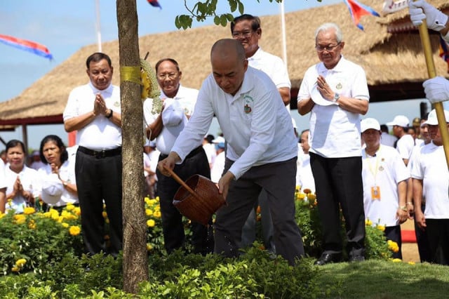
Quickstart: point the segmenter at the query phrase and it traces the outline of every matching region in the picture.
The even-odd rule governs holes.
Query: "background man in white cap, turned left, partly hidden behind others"
[[[410,159],[413,147],[415,146],[415,140],[407,133],[408,123],[408,118],[403,115],[396,115],[393,121],[387,123],[387,126],[393,126],[393,135],[398,138],[396,150],[398,150],[406,165],[408,164],[408,159]]]

